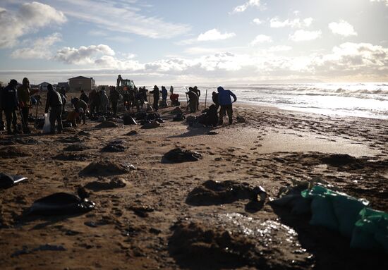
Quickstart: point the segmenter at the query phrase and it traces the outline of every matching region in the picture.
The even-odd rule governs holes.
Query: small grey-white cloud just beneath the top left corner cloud
[[[32,47],[16,49],[11,57],[14,59],[49,59],[51,57],[51,46],[61,41],[61,34],[54,33],[47,37],[36,39]]]

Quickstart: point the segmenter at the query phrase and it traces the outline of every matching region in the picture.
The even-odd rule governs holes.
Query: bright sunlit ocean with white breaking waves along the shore
[[[236,94],[238,102],[325,115],[388,119],[388,82],[222,85]],[[166,87],[169,90],[169,87]],[[212,103],[217,85],[198,85],[201,101]],[[148,88],[151,89],[152,88]],[[185,87],[174,87],[186,100]]]

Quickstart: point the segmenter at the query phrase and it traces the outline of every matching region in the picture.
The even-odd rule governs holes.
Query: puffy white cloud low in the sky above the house
[[[64,47],[56,52],[54,59],[68,64],[85,65],[95,63],[96,60],[93,57],[100,54],[104,57],[114,56],[115,53],[113,49],[105,44],[90,45],[88,47],[81,46],[78,49]],[[104,59],[105,61],[109,61],[107,58]]]

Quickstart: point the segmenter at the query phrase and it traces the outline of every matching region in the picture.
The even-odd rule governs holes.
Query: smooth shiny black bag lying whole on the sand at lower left
[[[77,195],[59,192],[36,200],[30,207],[30,214],[63,215],[81,214],[95,208],[95,203]]]

